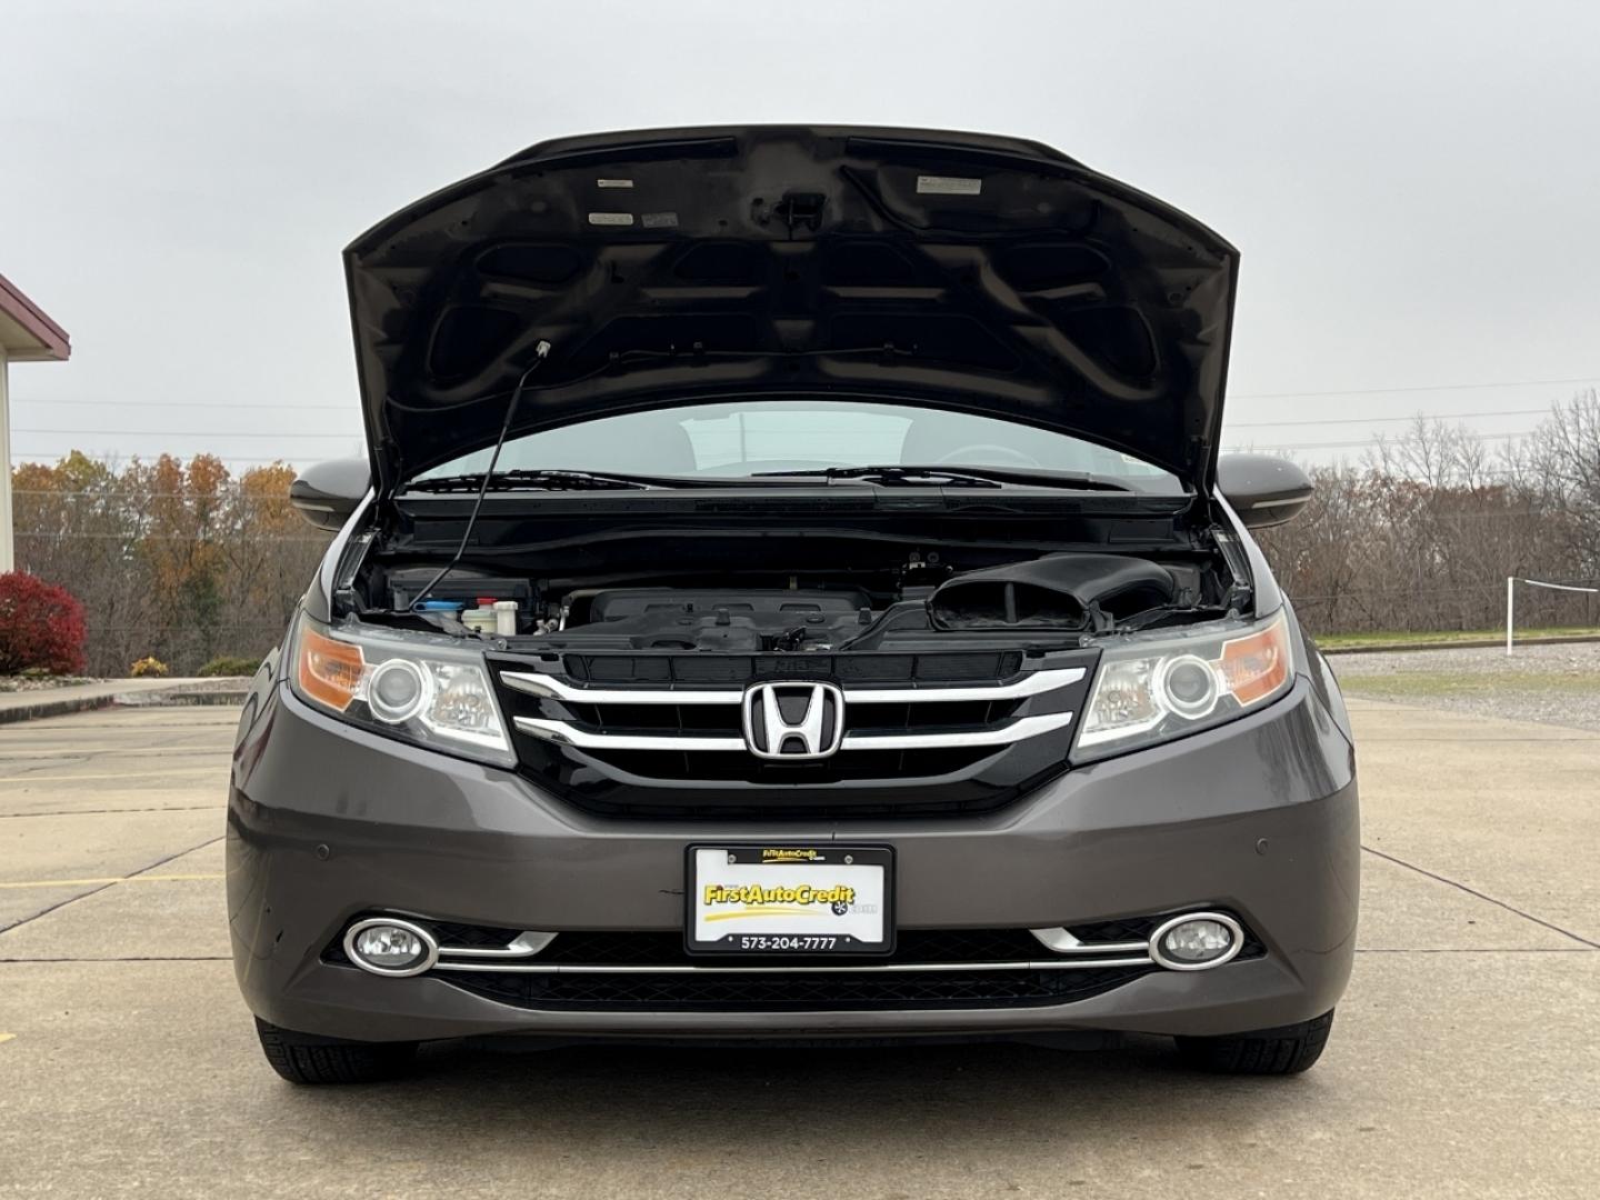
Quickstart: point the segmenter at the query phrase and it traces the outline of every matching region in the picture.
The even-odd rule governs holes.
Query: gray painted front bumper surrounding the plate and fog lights
[[[914,821],[597,818],[520,776],[374,736],[286,686],[246,720],[229,802],[229,923],[261,1018],[362,1040],[1229,1034],[1333,1008],[1355,949],[1350,744],[1306,680],[1218,730],[1080,766],[998,813]],[[896,850],[902,930],[1046,928],[1202,907],[1266,955],[1155,971],[1070,1003],[862,1011],[552,1011],[424,974],[322,962],[371,910],[517,930],[680,930],[690,842],[850,840]]]

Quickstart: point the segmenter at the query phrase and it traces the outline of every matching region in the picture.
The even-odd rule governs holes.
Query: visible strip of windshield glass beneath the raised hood
[[[418,475],[477,474],[490,451]],[[840,400],[736,400],[627,413],[510,438],[496,470],[734,477],[866,466],[1011,467],[1102,475],[1184,494],[1171,475],[1093,442],[1013,421]]]

